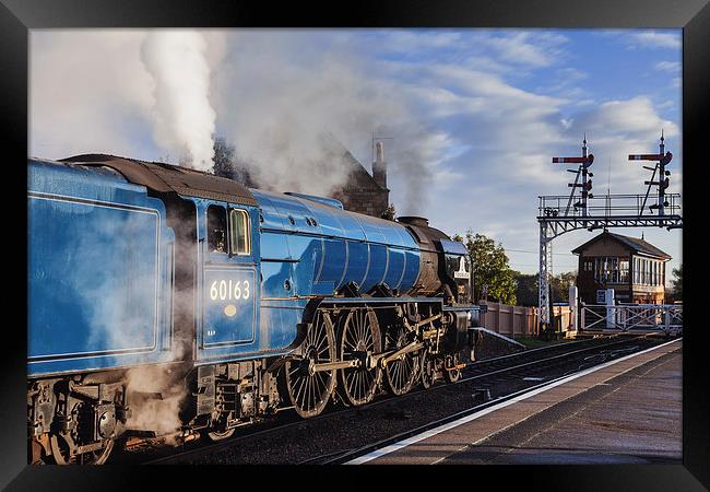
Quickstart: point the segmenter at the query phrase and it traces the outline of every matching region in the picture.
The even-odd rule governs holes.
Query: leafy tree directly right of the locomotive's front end
[[[462,239],[454,236],[454,239]],[[462,241],[463,242],[463,241]],[[465,246],[473,263],[473,294],[481,298],[481,290],[487,286],[487,295],[493,301],[504,304],[516,304],[514,272],[508,265],[508,256],[502,244],[496,243],[483,234],[466,232]]]

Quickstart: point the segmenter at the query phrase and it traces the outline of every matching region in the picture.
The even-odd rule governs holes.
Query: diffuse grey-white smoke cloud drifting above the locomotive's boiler
[[[388,138],[398,213],[425,212],[440,140],[429,138],[434,132],[416,94],[388,77],[387,68],[332,33],[210,34],[210,46],[218,34],[224,46],[213,67],[220,132],[257,187],[328,196],[348,179],[345,149],[370,171],[375,133]],[[342,148],[329,145],[323,134]]]

